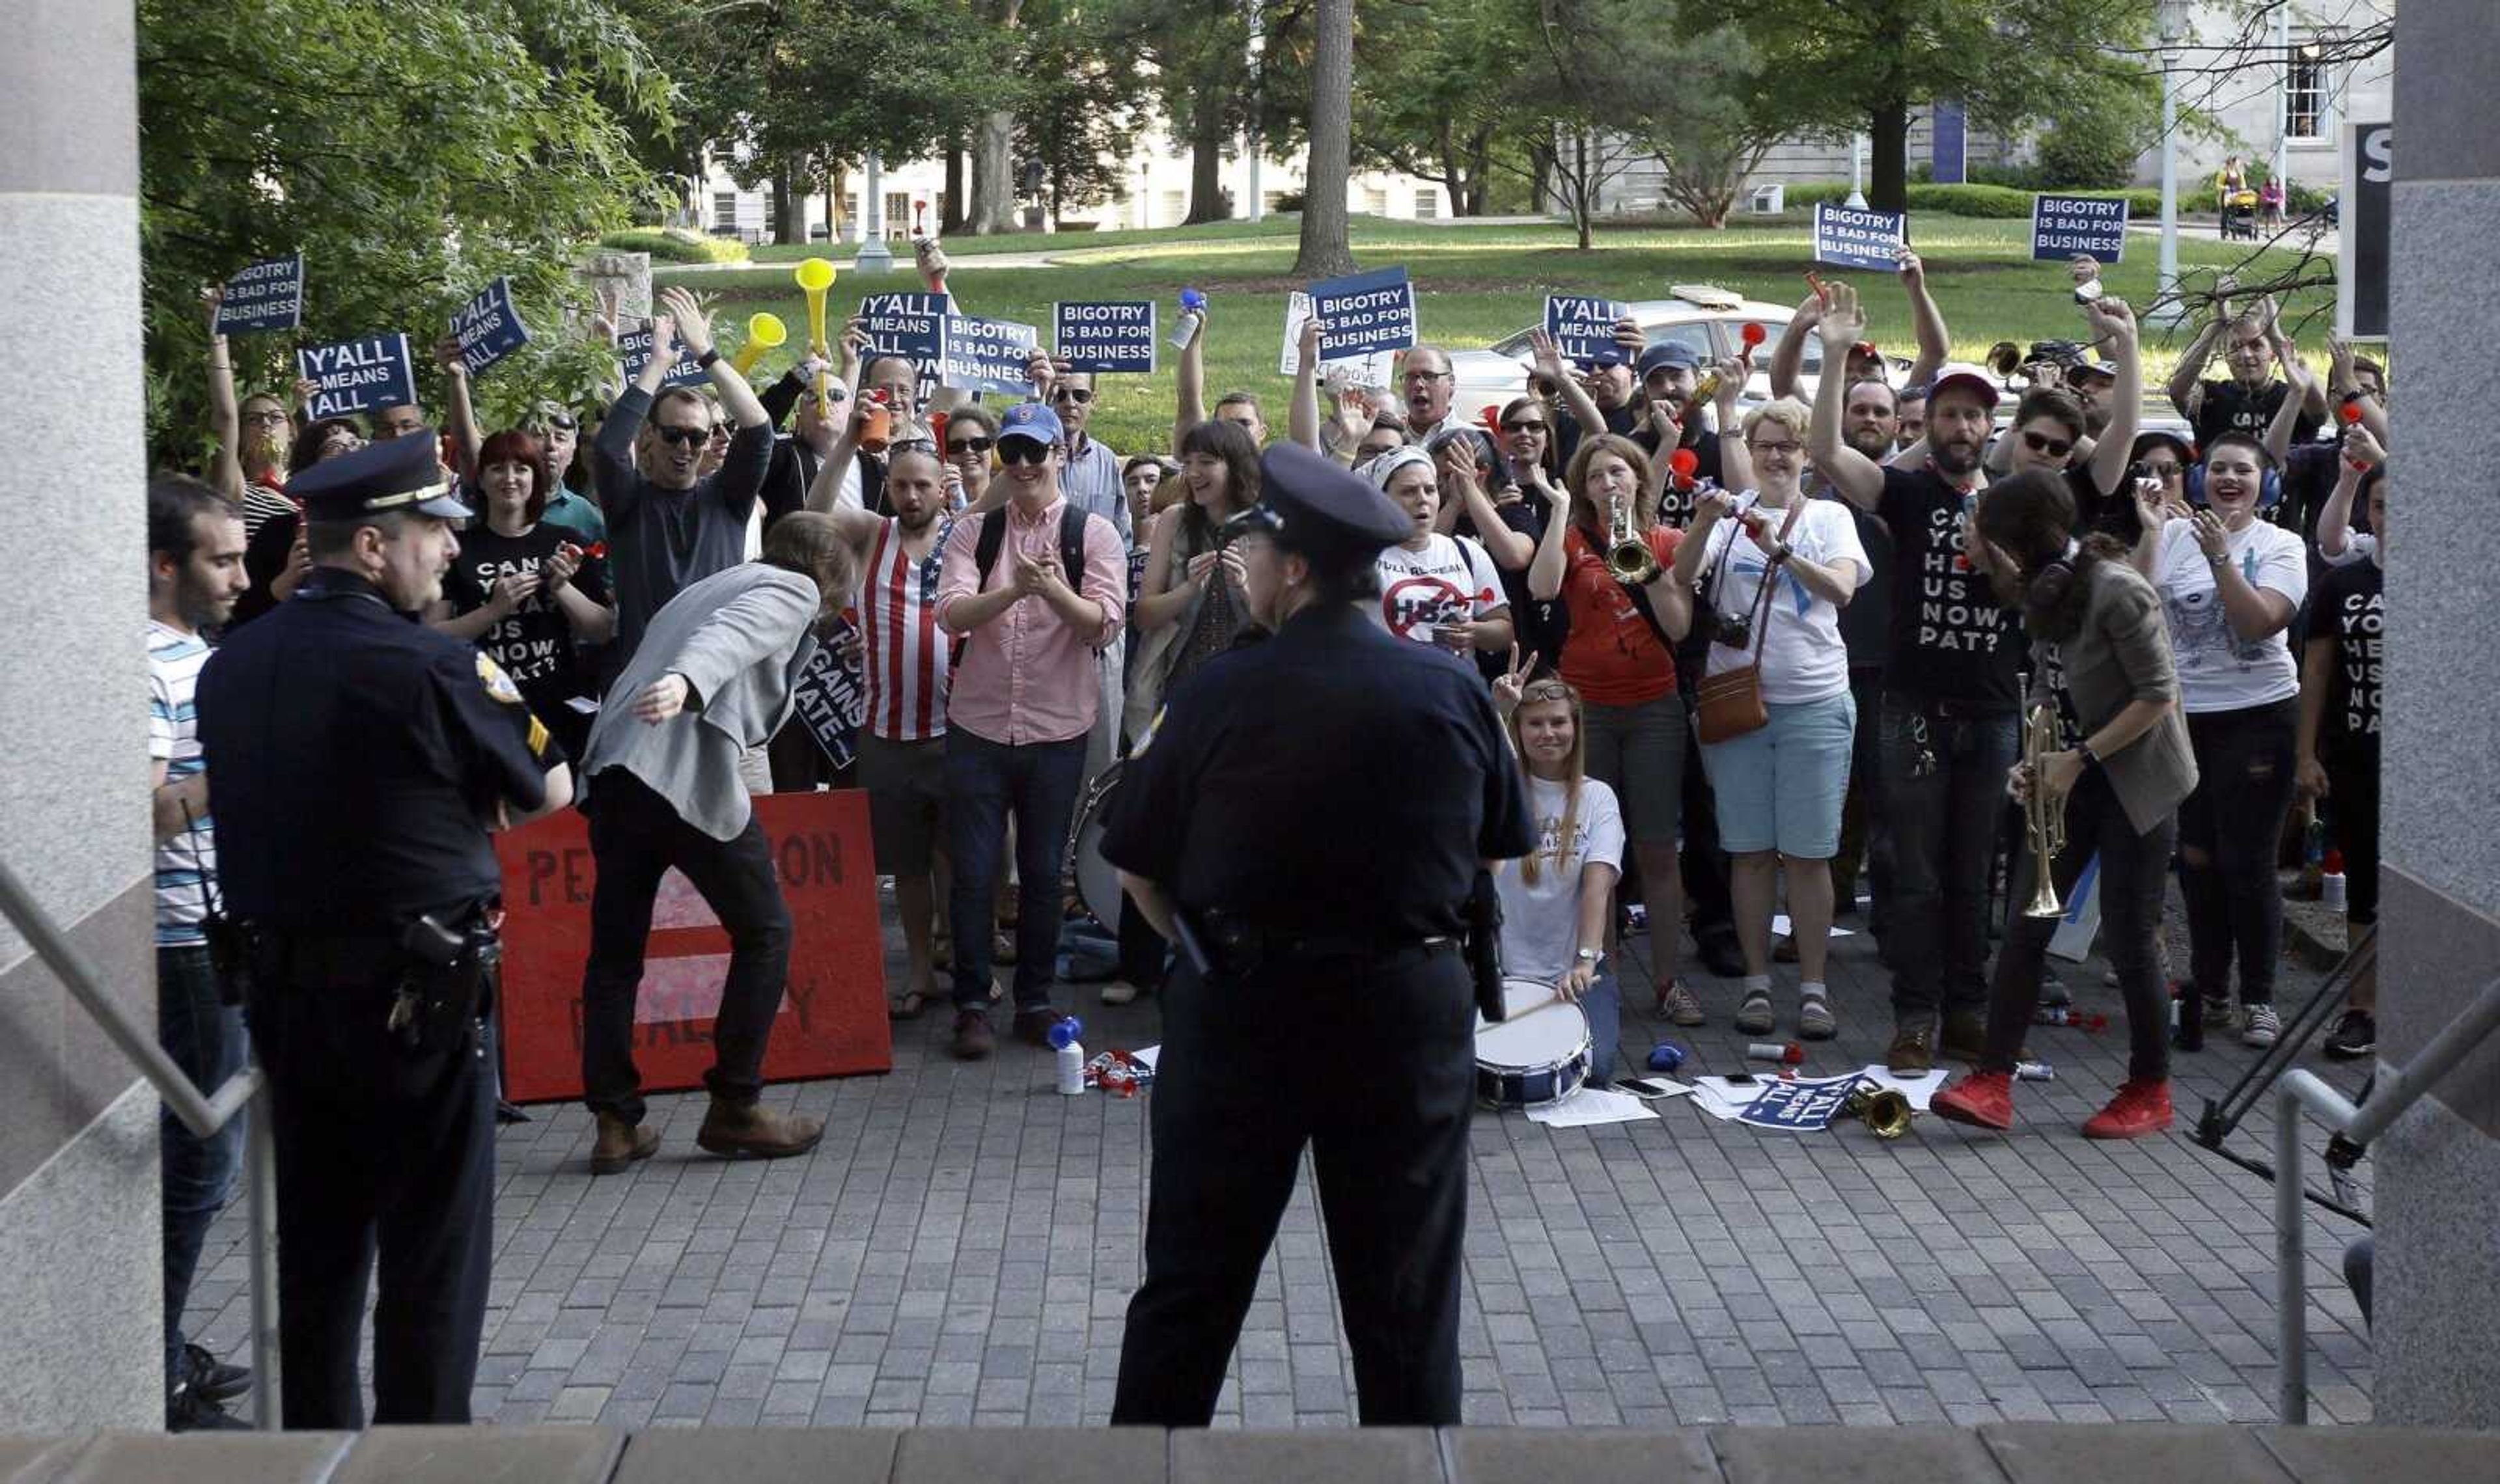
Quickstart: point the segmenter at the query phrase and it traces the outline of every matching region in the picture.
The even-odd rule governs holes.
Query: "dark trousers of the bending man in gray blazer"
[[[765,827],[748,814],[735,839],[712,839],[622,767],[590,784],[590,964],[582,969],[582,1089],[595,1112],[642,1122],[642,1074],[632,1064],[632,1009],[642,944],[668,867],[702,892],[730,934],[730,972],[712,1017],[712,1097],[752,1102],[762,1092],[765,1042],[790,979],[790,909],[772,874]]]

